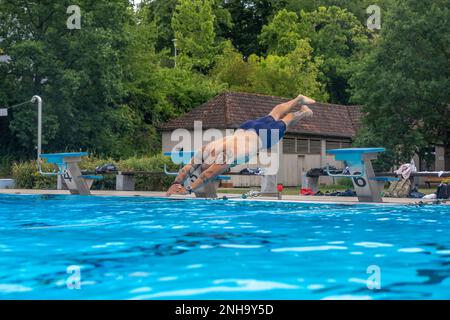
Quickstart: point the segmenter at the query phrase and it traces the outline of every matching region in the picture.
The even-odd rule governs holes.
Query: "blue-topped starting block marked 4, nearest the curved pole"
[[[90,195],[91,187],[95,180],[103,179],[99,175],[83,175],[78,163],[82,157],[88,156],[87,152],[66,152],[41,154],[41,159],[58,167],[55,172],[43,172],[39,163],[39,172],[46,176],[58,176],[67,185],[71,194]],[[38,159],[40,161],[40,159]]]

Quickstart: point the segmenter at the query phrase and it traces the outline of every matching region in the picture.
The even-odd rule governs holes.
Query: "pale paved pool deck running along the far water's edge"
[[[0,189],[0,194],[55,194],[55,195],[69,195],[67,190],[36,190],[36,189]],[[122,197],[165,197],[164,192],[153,191],[92,191],[95,196],[122,196]],[[240,199],[238,194],[219,193],[219,197],[228,197],[229,199]],[[178,196],[177,198],[195,198],[194,196]],[[258,197],[249,198],[248,200],[271,200],[277,201],[274,197]],[[356,204],[358,198],[356,197],[327,197],[327,196],[300,196],[300,195],[283,195],[282,201],[296,201],[296,202],[323,202],[323,203],[349,203]],[[385,204],[415,204],[419,201],[432,202],[433,200],[409,199],[409,198],[383,198]],[[450,201],[444,203],[450,205]]]

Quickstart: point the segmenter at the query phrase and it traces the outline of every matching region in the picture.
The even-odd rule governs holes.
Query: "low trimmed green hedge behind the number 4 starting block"
[[[95,168],[104,164],[112,163],[120,171],[146,171],[154,174],[137,174],[136,190],[140,191],[162,191],[167,190],[173,182],[173,177],[163,173],[164,164],[170,171],[176,171],[177,166],[169,157],[156,155],[152,157],[133,157],[126,160],[114,161],[113,159],[99,159],[96,157],[85,157],[80,162],[82,171],[95,171]],[[53,171],[55,168],[50,164],[43,164],[43,170]],[[16,162],[12,165],[12,177],[16,180],[18,188],[22,189],[56,189],[56,176],[43,176],[39,174],[36,161]],[[115,175],[104,175],[104,179],[95,181],[93,190],[114,190],[116,186]]]

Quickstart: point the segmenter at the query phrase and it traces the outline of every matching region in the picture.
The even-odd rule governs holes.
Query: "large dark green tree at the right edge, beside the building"
[[[388,166],[431,145],[450,149],[450,1],[402,0],[394,7],[351,79],[353,101],[365,105],[359,143],[387,147]]]

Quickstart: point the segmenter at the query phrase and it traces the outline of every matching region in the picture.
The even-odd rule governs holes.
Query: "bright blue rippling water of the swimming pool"
[[[443,205],[0,195],[0,299],[448,299],[449,218]]]

